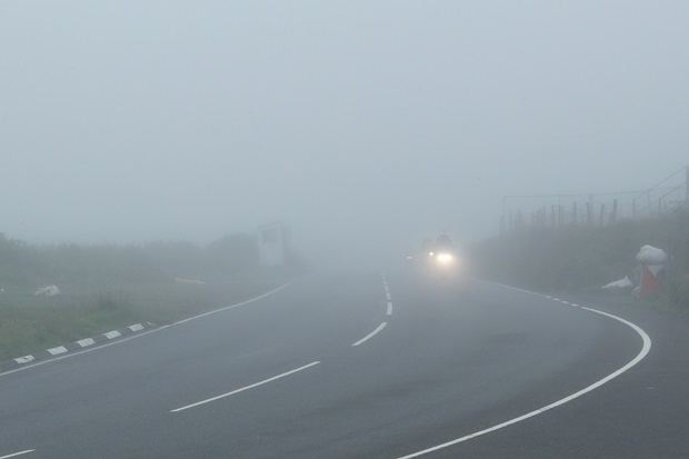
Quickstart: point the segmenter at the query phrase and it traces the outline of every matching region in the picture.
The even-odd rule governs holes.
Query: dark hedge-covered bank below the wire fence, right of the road
[[[652,299],[689,310],[689,211],[605,228],[533,228],[469,249],[476,276],[545,292],[600,291],[630,276],[643,245],[670,256],[665,290]]]

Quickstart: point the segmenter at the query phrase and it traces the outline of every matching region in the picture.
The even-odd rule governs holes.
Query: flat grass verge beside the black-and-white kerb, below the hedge
[[[240,302],[284,279],[249,277],[233,282],[172,280],[58,285],[61,295],[37,297],[26,287],[0,293],[0,361],[89,338],[137,322],[174,321]]]

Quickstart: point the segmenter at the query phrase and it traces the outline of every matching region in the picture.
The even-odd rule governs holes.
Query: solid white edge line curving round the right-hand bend
[[[599,315],[602,315],[602,316],[607,316],[607,317],[609,317],[611,319],[615,319],[615,320],[618,320],[618,321],[625,323],[628,327],[631,327],[637,333],[639,333],[639,336],[641,337],[641,340],[643,341],[643,346],[641,347],[641,351],[637,355],[637,357],[635,357],[632,360],[630,360],[622,368],[620,368],[617,371],[608,375],[603,379],[601,379],[601,380],[599,380],[597,382],[593,382],[592,385],[581,389],[580,391],[572,393],[571,396],[565,397],[563,399],[560,399],[560,400],[558,400],[558,401],[556,401],[553,403],[547,405],[547,406],[545,406],[542,408],[539,408],[537,410],[533,410],[531,412],[522,415],[522,416],[520,416],[518,418],[510,419],[509,421],[506,421],[506,422],[502,422],[502,423],[489,427],[488,429],[483,429],[483,430],[480,430],[478,432],[470,433],[470,435],[467,435],[465,437],[460,437],[460,438],[458,438],[456,440],[451,440],[451,441],[448,441],[446,443],[438,445],[438,446],[435,446],[435,447],[431,447],[431,448],[428,448],[428,449],[425,449],[425,450],[421,450],[421,451],[418,451],[418,452],[413,452],[411,455],[402,456],[402,457],[399,457],[398,459],[410,459],[410,458],[416,458],[416,457],[419,457],[419,456],[428,455],[429,452],[438,451],[439,449],[448,448],[448,447],[451,447],[453,445],[461,443],[463,441],[470,440],[472,438],[480,437],[482,435],[493,432],[496,430],[502,429],[505,427],[511,426],[513,423],[523,421],[526,419],[532,418],[532,417],[538,416],[538,415],[540,415],[542,412],[546,412],[548,410],[557,408],[560,405],[565,405],[565,403],[576,399],[576,398],[579,398],[579,397],[583,396],[585,393],[588,393],[588,392],[590,392],[590,391],[592,391],[595,389],[598,389],[600,386],[605,385],[606,382],[608,382],[608,381],[617,378],[618,376],[622,375],[625,371],[629,370],[630,368],[632,368],[633,366],[639,363],[648,355],[648,352],[650,351],[650,349],[651,349],[651,339],[646,333],[646,331],[643,331],[637,325],[635,325],[635,323],[632,323],[632,322],[630,322],[628,320],[625,320],[625,319],[622,319],[620,317],[617,317],[617,316],[613,316],[611,313],[608,313],[608,312],[602,312],[602,311],[599,311],[599,310],[596,310],[596,309],[591,309],[591,308],[586,308],[586,307],[581,307],[581,309],[586,309],[587,311],[591,311],[591,312],[596,312],[596,313],[599,313]]]

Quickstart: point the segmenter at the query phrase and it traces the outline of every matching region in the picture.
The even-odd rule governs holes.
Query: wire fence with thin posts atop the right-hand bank
[[[503,196],[500,232],[528,227],[605,227],[689,207],[689,167],[655,186],[633,191],[581,194]]]

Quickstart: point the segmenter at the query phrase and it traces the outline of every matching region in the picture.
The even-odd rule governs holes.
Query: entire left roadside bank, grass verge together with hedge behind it
[[[0,361],[141,321],[172,323],[261,295],[298,272],[260,269],[253,239],[243,235],[207,248],[36,247],[0,235]],[[34,295],[51,285],[60,295]]]

